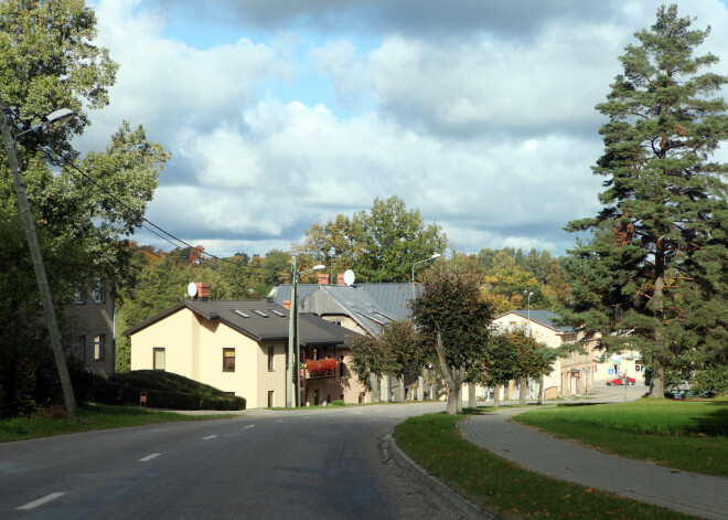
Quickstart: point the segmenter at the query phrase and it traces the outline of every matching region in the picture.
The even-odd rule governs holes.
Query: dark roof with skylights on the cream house
[[[184,300],[138,323],[122,333],[131,336],[168,316],[188,308],[208,320],[220,320],[256,341],[287,340],[289,311],[268,299],[260,300]],[[235,310],[248,316],[245,318]],[[299,333],[302,344],[338,344],[351,342],[350,331],[312,315],[300,315]]]

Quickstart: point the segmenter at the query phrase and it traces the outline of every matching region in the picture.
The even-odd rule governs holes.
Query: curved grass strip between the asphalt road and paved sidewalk
[[[461,438],[456,424],[465,417],[408,418],[395,428],[394,437],[430,475],[499,518],[690,518],[522,469]]]

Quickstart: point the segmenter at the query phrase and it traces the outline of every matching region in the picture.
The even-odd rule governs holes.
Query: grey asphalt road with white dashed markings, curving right
[[[379,445],[443,406],[250,411],[0,444],[0,518],[459,518]]]

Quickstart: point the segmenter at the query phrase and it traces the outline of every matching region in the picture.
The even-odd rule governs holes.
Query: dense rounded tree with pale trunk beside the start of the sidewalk
[[[424,336],[426,355],[437,359],[445,379],[447,414],[462,411],[462,383],[486,354],[493,310],[481,298],[479,273],[438,262],[424,276],[413,318]]]

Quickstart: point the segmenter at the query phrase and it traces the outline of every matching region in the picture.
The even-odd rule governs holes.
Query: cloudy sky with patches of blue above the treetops
[[[393,195],[458,252],[564,255],[566,223],[600,209],[595,105],[662,2],[87,3],[120,70],[77,148],[142,125],[172,152],[147,217],[229,256],[287,251],[312,224]],[[728,75],[726,2],[677,3],[710,25],[698,53]],[[133,240],[171,247],[146,230]]]

